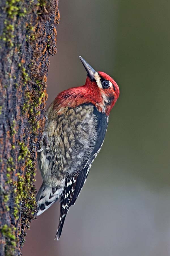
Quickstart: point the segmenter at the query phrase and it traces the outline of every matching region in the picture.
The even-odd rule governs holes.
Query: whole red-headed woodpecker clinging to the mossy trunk
[[[36,196],[36,215],[60,199],[57,239],[103,145],[109,113],[119,97],[119,87],[109,75],[79,58],[87,71],[86,83],[59,93],[51,103],[46,139],[37,153],[43,182]]]

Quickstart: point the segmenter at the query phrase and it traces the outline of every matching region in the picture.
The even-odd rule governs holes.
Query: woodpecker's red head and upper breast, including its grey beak
[[[76,107],[83,103],[92,103],[98,111],[109,115],[119,97],[117,83],[106,73],[95,71],[81,56],[79,58],[87,71],[86,83],[59,93],[54,108],[59,105]]]

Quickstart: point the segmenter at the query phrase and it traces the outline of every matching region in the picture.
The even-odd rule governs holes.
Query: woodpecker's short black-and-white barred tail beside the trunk
[[[45,212],[54,202],[56,202],[62,195],[63,189],[48,187],[42,183],[37,195],[36,201],[38,205],[37,216]]]

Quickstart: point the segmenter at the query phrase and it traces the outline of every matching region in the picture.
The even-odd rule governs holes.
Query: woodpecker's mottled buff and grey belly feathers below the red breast
[[[78,173],[97,140],[97,119],[92,104],[55,111],[57,115],[50,108],[47,112],[51,146],[44,147],[39,158],[43,180],[50,187],[59,186],[66,175]]]

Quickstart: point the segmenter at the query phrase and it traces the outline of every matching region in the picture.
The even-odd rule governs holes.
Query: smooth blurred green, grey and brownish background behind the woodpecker
[[[79,55],[116,80],[120,98],[60,240],[56,203],[32,221],[23,256],[170,255],[170,2],[60,0],[59,10],[47,107],[85,83]]]

